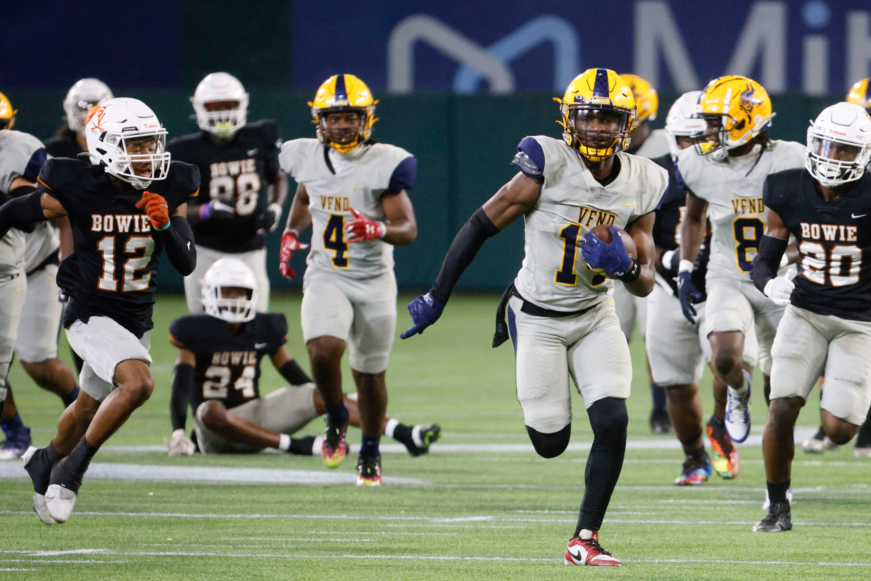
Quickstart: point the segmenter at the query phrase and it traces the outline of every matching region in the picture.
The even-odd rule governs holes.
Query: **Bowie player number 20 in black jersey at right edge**
[[[772,347],[771,408],[762,436],[768,515],[757,532],[793,526],[787,490],[793,428],[820,375],[822,425],[836,444],[853,439],[871,405],[871,117],[862,107],[827,107],[807,130],[807,165],[766,179],[768,208],[756,287],[786,307]],[[792,234],[798,276],[778,276]],[[794,280],[793,280],[794,278]],[[788,306],[787,306],[788,305]]]

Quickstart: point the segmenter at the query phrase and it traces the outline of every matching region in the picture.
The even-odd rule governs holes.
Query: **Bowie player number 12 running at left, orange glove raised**
[[[49,159],[37,192],[0,208],[0,234],[68,216],[74,240],[57,285],[70,297],[63,324],[84,360],[81,390],[51,443],[24,454],[34,510],[45,524],[70,518],[91,458],[152,394],[148,349],[160,253],[183,275],[197,258],[185,210],[199,171],[170,161],[154,112],[137,99],[113,98],[91,109],[85,131],[90,163]]]

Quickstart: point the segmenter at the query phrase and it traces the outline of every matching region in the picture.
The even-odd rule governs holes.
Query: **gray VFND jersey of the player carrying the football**
[[[561,139],[534,139],[544,151],[544,185],[524,219],[525,254],[515,287],[539,307],[592,307],[611,295],[614,281],[587,267],[578,248],[584,235],[598,224],[625,228],[653,212],[668,186],[668,172],[650,159],[618,153],[618,177],[602,186],[580,153]]]

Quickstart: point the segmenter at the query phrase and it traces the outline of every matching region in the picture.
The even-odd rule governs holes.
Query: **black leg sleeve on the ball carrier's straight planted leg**
[[[584,473],[584,500],[581,514],[577,519],[575,537],[582,529],[598,532],[602,526],[604,512],[608,510],[611,494],[623,470],[623,456],[626,452],[626,426],[629,414],[626,401],[616,397],[605,397],[593,403],[587,410],[593,429],[593,445],[587,456]]]

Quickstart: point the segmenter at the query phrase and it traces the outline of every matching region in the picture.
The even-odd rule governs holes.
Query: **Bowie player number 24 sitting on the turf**
[[[204,454],[253,453],[265,448],[291,454],[321,454],[323,436],[291,438],[315,417],[327,413],[312,380],[287,353],[287,320],[279,313],[256,313],[257,279],[244,262],[223,258],[202,283],[206,314],[172,321],[170,339],[179,348],[172,376],[170,456],[190,456],[185,436],[187,406],[194,410],[194,433]],[[260,397],[260,360],[268,355],[290,382]],[[360,425],[357,402],[344,398],[352,426]],[[386,418],[381,433],[422,456],[438,439],[437,424],[406,426]]]

